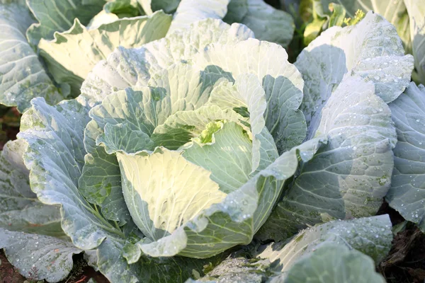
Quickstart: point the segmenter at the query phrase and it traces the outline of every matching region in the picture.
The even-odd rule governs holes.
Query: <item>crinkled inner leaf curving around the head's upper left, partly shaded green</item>
[[[85,131],[86,150],[89,154],[86,156],[79,188],[89,202],[101,204],[102,209],[108,207],[108,219],[118,218],[125,223],[128,221],[128,213],[125,213],[126,209],[123,207],[118,161],[115,156],[108,156],[106,152],[112,154],[123,150],[135,153],[152,149],[149,136],[154,128],[162,125],[176,112],[195,110],[205,104],[215,83],[214,78],[215,76],[194,70],[188,64],[176,64],[154,76],[149,81],[151,88],[118,91],[107,96],[101,105],[91,110],[90,115],[94,121],[89,123]],[[125,125],[118,126],[122,123]],[[106,125],[109,125],[108,132],[104,129]],[[128,131],[128,134],[116,136],[120,130]],[[143,137],[143,141],[130,139],[131,135]],[[96,147],[99,143],[106,146],[106,150]]]

